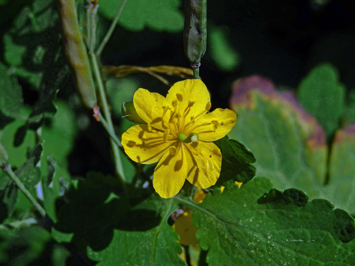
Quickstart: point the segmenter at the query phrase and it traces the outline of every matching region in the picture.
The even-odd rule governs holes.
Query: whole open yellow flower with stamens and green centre
[[[218,108],[207,113],[211,102],[200,79],[175,83],[166,98],[138,89],[133,104],[147,124],[129,128],[121,143],[133,161],[159,161],[153,186],[162,198],[175,196],[185,179],[199,188],[215,184],[222,154],[212,141],[224,137],[234,126],[233,111]]]

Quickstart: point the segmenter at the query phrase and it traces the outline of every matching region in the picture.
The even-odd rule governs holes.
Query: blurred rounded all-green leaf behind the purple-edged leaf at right
[[[339,128],[345,109],[345,90],[339,81],[338,70],[330,63],[313,68],[299,85],[297,98],[317,118],[327,138]]]

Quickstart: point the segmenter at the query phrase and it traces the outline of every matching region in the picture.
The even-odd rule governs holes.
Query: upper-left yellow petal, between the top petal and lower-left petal
[[[133,104],[138,115],[147,123],[150,123],[152,127],[158,129],[167,128],[168,114],[164,114],[164,107],[170,106],[169,102],[164,96],[159,93],[151,93],[146,89],[138,89],[133,95]],[[169,113],[170,115],[170,113]]]

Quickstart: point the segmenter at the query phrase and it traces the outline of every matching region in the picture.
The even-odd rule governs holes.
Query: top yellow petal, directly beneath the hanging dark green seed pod
[[[186,107],[191,106],[185,123],[190,122],[192,116],[196,116],[203,111],[206,112],[206,105],[210,102],[208,90],[201,79],[186,79],[176,82],[166,95],[166,100],[171,106],[173,106],[175,100],[179,100],[180,110],[178,112],[181,115]],[[192,104],[192,102],[194,103]]]

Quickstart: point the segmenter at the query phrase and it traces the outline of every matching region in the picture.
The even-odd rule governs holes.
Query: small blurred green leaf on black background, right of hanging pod
[[[208,27],[208,47],[211,58],[222,71],[235,70],[241,61],[241,56],[230,43],[228,35],[228,29],[226,28]]]

